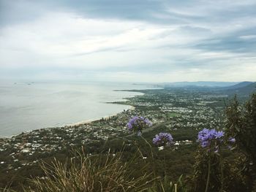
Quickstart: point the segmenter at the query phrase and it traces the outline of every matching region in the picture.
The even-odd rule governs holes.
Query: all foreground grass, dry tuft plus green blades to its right
[[[150,145],[148,142],[147,144]],[[23,186],[18,191],[177,192],[177,189],[178,192],[184,191],[181,178],[177,184],[174,184],[167,176],[162,179],[158,177],[152,171],[154,161],[151,161],[151,158],[143,158],[139,147],[131,157],[124,155],[124,148],[122,147],[119,152],[113,153],[108,150],[97,155],[88,155],[82,148],[79,151],[72,151],[73,157],[65,162],[56,159],[50,164],[42,162],[41,169],[44,172],[44,177],[32,178],[29,185]],[[15,192],[10,188],[1,190]]]

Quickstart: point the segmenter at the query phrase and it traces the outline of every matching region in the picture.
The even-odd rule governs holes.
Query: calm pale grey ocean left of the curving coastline
[[[1,82],[0,137],[115,115],[130,106],[106,102],[142,94],[115,90],[145,88],[150,87],[101,82]]]

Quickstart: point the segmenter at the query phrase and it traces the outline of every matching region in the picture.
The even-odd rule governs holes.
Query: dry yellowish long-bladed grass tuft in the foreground
[[[132,177],[135,170],[129,169],[141,159],[140,153],[135,154],[129,161],[122,160],[122,152],[107,154],[85,155],[77,153],[74,159],[66,163],[59,161],[53,164],[42,164],[45,178],[31,180],[31,188],[27,192],[91,192],[91,191],[146,191],[151,180],[151,173],[147,171],[148,164],[139,170],[141,175]],[[136,170],[138,172],[138,170]]]

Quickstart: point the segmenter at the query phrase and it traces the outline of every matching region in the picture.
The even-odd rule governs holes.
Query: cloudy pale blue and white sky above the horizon
[[[0,0],[0,80],[256,81],[255,0]]]

